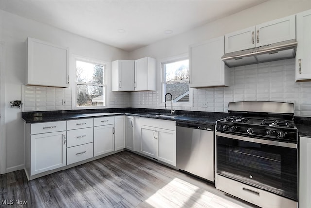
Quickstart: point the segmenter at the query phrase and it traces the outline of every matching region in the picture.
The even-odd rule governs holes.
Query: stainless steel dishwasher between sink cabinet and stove
[[[176,165],[200,178],[214,181],[214,126],[176,122]]]

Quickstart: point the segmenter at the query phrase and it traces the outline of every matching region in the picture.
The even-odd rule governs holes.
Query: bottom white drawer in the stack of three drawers
[[[93,142],[67,148],[67,165],[93,157]]]

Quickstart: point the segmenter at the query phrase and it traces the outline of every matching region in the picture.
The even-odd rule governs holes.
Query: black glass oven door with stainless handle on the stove
[[[216,132],[217,174],[297,201],[297,144]]]

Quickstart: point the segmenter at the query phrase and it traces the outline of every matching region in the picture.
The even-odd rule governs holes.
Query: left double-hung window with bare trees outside
[[[75,61],[75,107],[106,106],[106,64],[80,58]]]

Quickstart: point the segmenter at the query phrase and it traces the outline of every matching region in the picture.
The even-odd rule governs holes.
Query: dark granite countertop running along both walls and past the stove
[[[170,111],[164,109],[111,108],[91,110],[22,112],[22,119],[26,123],[41,123],[83,118],[95,118],[111,115],[132,115],[146,118],[215,125],[217,120],[227,116],[227,113],[222,112],[201,111],[176,111],[176,113],[174,113],[174,116],[176,117],[159,117],[156,116],[156,113],[170,115]],[[310,117],[295,117],[295,124],[298,128],[299,136],[311,137]]]

